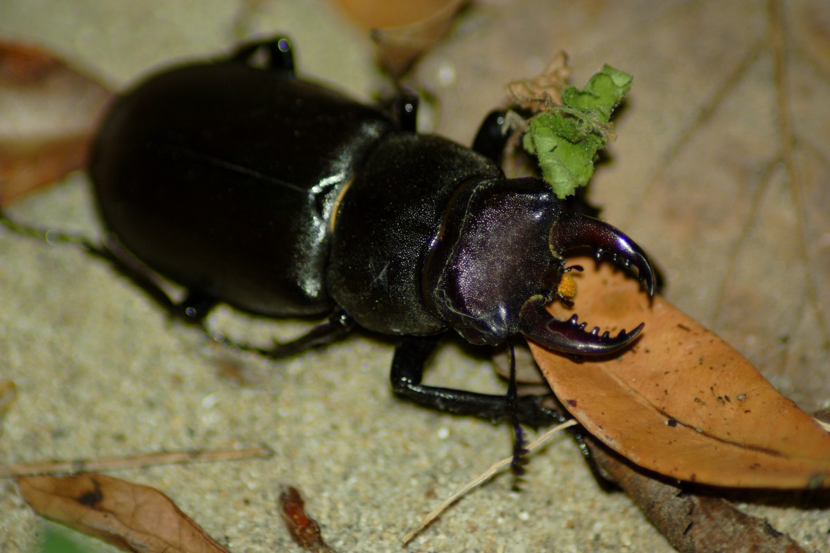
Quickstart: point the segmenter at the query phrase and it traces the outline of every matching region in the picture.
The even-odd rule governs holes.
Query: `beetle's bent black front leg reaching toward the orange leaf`
[[[466,390],[423,386],[423,368],[438,343],[437,336],[404,336],[392,361],[392,389],[419,405],[456,415],[472,415],[500,422],[513,420],[505,395],[478,394]],[[515,420],[529,426],[547,426],[562,416],[542,405],[544,395],[519,395],[515,398]]]

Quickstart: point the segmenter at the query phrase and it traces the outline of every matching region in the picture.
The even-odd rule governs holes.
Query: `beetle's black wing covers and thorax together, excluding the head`
[[[238,61],[124,95],[90,173],[105,226],[190,290],[277,317],[338,305],[369,330],[418,335],[447,327],[422,289],[453,194],[503,177],[469,148]]]

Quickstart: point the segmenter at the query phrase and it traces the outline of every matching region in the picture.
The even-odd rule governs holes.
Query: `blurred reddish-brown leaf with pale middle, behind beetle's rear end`
[[[0,205],[83,167],[109,98],[46,51],[0,41]]]

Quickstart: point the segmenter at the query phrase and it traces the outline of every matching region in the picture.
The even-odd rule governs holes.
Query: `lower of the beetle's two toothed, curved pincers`
[[[623,329],[615,337],[609,331],[600,334],[599,327],[585,332],[587,326],[588,323],[579,322],[577,315],[572,315],[567,321],[552,317],[544,308],[544,298],[540,296],[525,302],[519,315],[519,332],[525,337],[556,352],[574,356],[600,356],[618,352],[634,341],[644,325],[640,323],[631,332]]]

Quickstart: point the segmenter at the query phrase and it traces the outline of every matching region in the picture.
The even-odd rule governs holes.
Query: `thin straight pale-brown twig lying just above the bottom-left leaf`
[[[37,476],[38,474],[93,473],[172,463],[238,461],[247,458],[269,458],[273,454],[274,452],[265,445],[258,445],[247,449],[172,451],[156,454],[127,455],[125,457],[77,459],[74,461],[39,461],[37,463],[19,463],[0,466],[0,478]]]

